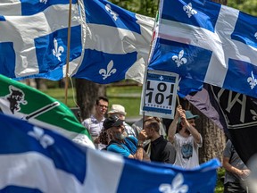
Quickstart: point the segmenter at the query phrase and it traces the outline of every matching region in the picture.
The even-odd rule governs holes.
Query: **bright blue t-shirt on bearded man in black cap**
[[[107,147],[107,151],[115,152],[126,157],[129,157],[130,154],[135,155],[137,152],[137,138],[128,138],[124,139],[125,143],[113,141],[112,144]]]

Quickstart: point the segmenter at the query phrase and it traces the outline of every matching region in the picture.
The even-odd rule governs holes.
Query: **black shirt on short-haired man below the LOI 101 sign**
[[[155,139],[150,144],[151,144],[151,147],[150,147],[151,161],[168,163],[168,164],[175,163],[176,150],[168,140],[163,138],[163,136],[160,136],[160,138]],[[147,150],[150,144],[145,146],[145,151]]]

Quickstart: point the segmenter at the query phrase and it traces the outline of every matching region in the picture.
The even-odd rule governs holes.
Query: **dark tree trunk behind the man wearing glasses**
[[[76,94],[82,121],[94,113],[95,99],[98,96],[106,96],[105,86],[89,80],[76,79]]]

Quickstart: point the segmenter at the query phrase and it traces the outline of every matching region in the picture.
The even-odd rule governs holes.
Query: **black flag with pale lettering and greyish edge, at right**
[[[204,84],[187,100],[223,129],[245,164],[257,154],[257,99]]]

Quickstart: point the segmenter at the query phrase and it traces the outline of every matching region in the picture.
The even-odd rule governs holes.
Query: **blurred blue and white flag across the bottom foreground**
[[[213,159],[192,170],[81,148],[68,138],[0,113],[2,192],[214,192]]]

